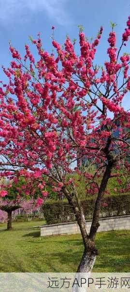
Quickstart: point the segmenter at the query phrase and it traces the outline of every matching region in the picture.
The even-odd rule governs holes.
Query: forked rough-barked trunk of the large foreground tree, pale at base
[[[95,263],[96,256],[98,255],[98,251],[95,246],[95,237],[96,237],[98,227],[100,226],[99,217],[100,217],[100,209],[101,209],[101,200],[103,199],[104,191],[107,186],[108,180],[111,176],[112,168],[114,165],[114,158],[110,153],[107,154],[107,158],[108,158],[108,164],[106,166],[104,175],[101,180],[101,185],[100,185],[99,193],[98,193],[97,200],[95,203],[93,219],[92,219],[89,235],[87,233],[86,220],[85,220],[84,212],[83,212],[82,206],[80,205],[80,202],[77,200],[76,196],[75,196],[76,197],[76,201],[75,201],[73,194],[70,194],[65,187],[63,188],[63,192],[75,213],[76,220],[80,227],[80,231],[81,231],[81,235],[82,235],[84,247],[85,247],[84,254],[82,256],[81,262],[77,269],[78,273],[90,273]]]

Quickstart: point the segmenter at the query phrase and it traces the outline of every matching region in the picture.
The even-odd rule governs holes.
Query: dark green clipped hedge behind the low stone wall
[[[86,219],[91,219],[94,210],[94,199],[83,200],[82,206]],[[101,206],[100,217],[119,216],[130,214],[130,195],[106,197],[108,206]],[[72,207],[66,201],[52,201],[43,204],[44,218],[47,224],[75,221]]]

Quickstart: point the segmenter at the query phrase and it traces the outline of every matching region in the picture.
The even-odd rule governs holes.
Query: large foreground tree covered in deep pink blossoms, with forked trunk
[[[78,272],[91,271],[98,254],[95,237],[108,180],[115,175],[115,167],[130,170],[130,111],[122,106],[124,98],[129,103],[130,56],[124,48],[130,37],[130,17],[118,49],[114,27],[108,37],[108,61],[102,67],[95,64],[102,27],[91,42],[80,27],[80,55],[75,53],[75,39],[67,37],[64,46],[58,44],[54,27],[56,51],[51,54],[43,50],[40,35],[31,38],[37,61],[28,45],[23,59],[10,45],[14,60],[3,68],[9,82],[1,82],[0,88],[1,175],[36,180],[44,198],[46,184],[64,194],[84,243]],[[76,166],[83,157],[89,165],[97,165],[94,173],[89,167]],[[85,178],[87,194],[97,197],[90,232],[72,175],[74,164],[79,177]]]

